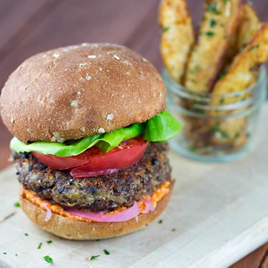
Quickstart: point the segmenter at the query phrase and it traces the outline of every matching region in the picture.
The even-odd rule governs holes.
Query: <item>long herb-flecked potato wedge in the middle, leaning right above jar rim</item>
[[[198,42],[189,58],[185,86],[209,92],[236,29],[241,0],[206,0]]]

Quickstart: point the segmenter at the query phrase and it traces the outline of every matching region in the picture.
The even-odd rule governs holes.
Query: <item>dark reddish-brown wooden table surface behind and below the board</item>
[[[268,1],[252,0],[259,17],[268,20]],[[202,1],[188,0],[194,24]],[[27,57],[81,42],[115,42],[148,58],[160,71],[158,0],[0,0],[0,88]],[[10,163],[11,134],[0,122],[0,169]],[[268,244],[232,268],[268,268]]]

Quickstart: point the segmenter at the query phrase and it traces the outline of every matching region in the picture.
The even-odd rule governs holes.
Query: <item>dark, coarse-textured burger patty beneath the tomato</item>
[[[24,188],[52,203],[92,211],[132,206],[171,179],[166,143],[150,143],[136,164],[95,177],[73,178],[68,171],[41,164],[31,153],[15,153],[14,159]]]

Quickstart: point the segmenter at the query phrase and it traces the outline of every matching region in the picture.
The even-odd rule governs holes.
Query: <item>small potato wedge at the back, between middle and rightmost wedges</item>
[[[246,3],[243,4],[240,11],[241,24],[237,32],[236,48],[237,51],[245,48],[253,38],[257,30],[261,27],[261,22],[253,9]]]

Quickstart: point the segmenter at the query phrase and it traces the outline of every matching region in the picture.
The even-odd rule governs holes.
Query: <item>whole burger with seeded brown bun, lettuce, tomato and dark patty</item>
[[[20,206],[67,239],[115,237],[150,224],[172,192],[166,140],[179,123],[144,57],[82,43],[26,59],[0,96]]]

